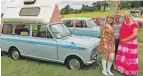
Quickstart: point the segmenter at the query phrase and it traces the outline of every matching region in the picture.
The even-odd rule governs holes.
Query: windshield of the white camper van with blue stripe
[[[71,35],[70,30],[64,24],[54,24],[51,25],[50,28],[57,39]]]

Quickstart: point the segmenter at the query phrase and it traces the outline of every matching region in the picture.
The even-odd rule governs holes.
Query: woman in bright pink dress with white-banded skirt
[[[129,76],[138,75],[137,33],[138,25],[130,12],[124,15],[120,29],[120,43],[115,60],[115,69]]]

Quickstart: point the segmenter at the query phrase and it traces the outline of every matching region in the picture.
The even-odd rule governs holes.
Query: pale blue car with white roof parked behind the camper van
[[[100,27],[91,18],[64,18],[62,21],[74,35],[100,37]]]

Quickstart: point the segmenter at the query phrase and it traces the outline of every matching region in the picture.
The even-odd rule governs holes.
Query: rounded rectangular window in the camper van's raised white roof
[[[39,7],[22,8],[19,15],[20,16],[38,16],[39,12],[40,12]]]

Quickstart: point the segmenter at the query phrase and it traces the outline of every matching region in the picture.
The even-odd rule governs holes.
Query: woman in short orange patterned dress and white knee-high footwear
[[[114,60],[115,42],[114,42],[114,15],[108,15],[104,24],[100,27],[101,41],[99,51],[102,58],[102,73],[104,75],[114,75],[110,69]],[[107,66],[106,66],[107,65]]]

